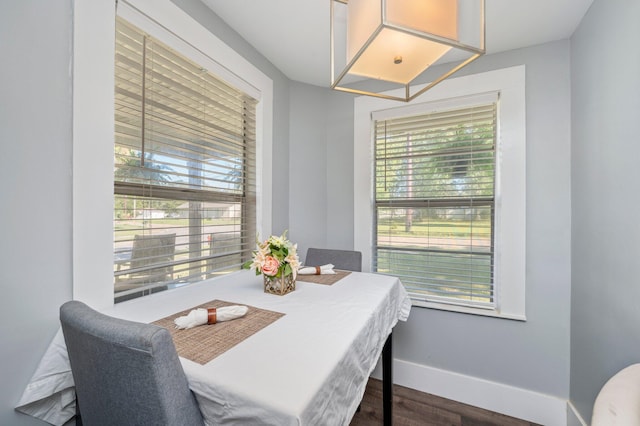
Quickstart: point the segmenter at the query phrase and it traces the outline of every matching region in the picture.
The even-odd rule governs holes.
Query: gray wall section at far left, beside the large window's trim
[[[71,298],[72,2],[0,3],[0,424]]]

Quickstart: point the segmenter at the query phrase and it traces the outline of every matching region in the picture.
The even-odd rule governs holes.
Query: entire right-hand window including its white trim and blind
[[[409,104],[356,98],[363,269],[399,276],[414,306],[525,320],[525,117],[524,66],[450,78]]]

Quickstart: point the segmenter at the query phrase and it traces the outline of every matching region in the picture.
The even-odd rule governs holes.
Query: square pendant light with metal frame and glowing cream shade
[[[335,90],[407,102],[485,53],[484,0],[330,2]],[[416,79],[440,65],[440,77],[415,88]],[[358,88],[370,80],[401,87],[404,96]]]

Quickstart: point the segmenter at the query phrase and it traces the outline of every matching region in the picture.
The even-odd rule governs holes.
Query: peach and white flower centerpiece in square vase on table
[[[257,249],[252,260],[242,267],[253,269],[256,275],[264,277],[265,293],[284,295],[296,289],[296,275],[300,267],[297,244],[287,240],[287,231],[280,236],[270,236],[267,240],[256,241]]]

